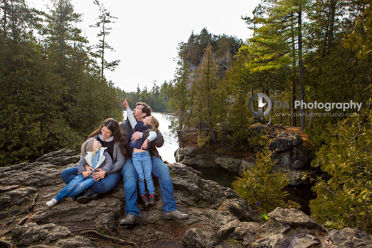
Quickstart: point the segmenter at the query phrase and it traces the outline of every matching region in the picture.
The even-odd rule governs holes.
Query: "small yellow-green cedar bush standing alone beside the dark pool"
[[[244,170],[241,177],[232,182],[232,187],[240,197],[256,206],[259,212],[268,213],[276,207],[285,206],[287,193],[282,189],[288,185],[288,178],[279,171],[271,173],[275,164],[271,160],[274,152],[269,149],[266,141],[261,144],[264,148],[257,152],[256,165]]]

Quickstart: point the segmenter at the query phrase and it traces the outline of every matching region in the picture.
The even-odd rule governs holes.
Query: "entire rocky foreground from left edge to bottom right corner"
[[[183,221],[161,217],[163,202],[143,209],[138,225],[118,228],[125,216],[123,182],[88,204],[45,202],[65,184],[61,172],[79,160],[62,149],[33,163],[0,168],[0,247],[371,247],[371,236],[356,229],[325,230],[295,209],[262,219],[231,188],[201,178],[181,163],[169,164],[174,197]],[[155,181],[155,190],[160,188]]]

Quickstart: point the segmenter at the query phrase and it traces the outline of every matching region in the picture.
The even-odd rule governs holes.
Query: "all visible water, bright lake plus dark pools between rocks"
[[[126,120],[126,111],[124,111],[124,120]],[[172,118],[169,112],[153,112],[154,117],[159,121],[159,130],[164,137],[164,145],[158,148],[159,154],[163,161],[168,163],[176,162],[174,158],[174,152],[179,148],[178,138],[170,132],[168,126]],[[221,184],[224,187],[231,187],[235,177],[238,176],[237,172],[231,172],[222,167],[216,168],[194,168],[203,174],[203,179],[212,180]],[[310,208],[308,206],[309,201],[315,198],[314,193],[311,191],[311,185],[300,184],[300,185],[288,185],[285,190],[289,193],[286,200],[297,202],[301,205],[301,211],[305,214],[310,214]]]

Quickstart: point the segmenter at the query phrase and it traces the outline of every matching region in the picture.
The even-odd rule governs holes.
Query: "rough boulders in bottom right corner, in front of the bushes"
[[[372,236],[357,229],[326,230],[306,214],[296,209],[278,207],[269,213],[269,220],[260,225],[256,222],[234,220],[223,225],[216,233],[214,247],[254,248],[311,248],[349,247],[367,248],[372,245]],[[187,247],[207,247],[201,242],[205,233],[190,229],[183,243]]]

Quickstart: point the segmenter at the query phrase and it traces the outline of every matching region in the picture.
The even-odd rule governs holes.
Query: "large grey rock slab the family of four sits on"
[[[97,245],[98,234],[91,239],[81,230],[99,229],[99,234],[101,231],[111,233],[137,244],[166,237],[181,244],[183,234],[191,225],[207,231],[210,233],[207,236],[212,237],[222,225],[234,220],[261,221],[231,188],[203,180],[200,172],[180,163],[168,166],[177,207],[190,214],[189,220],[169,221],[161,217],[163,201],[155,178],[156,205],[144,209],[139,204],[142,221],[134,227],[118,229],[118,222],[125,217],[122,180],[112,192],[88,204],[65,200],[47,207],[45,202],[65,186],[61,172],[76,166],[79,159],[73,150],[63,149],[44,155],[37,162],[0,168],[0,232],[6,233],[2,236],[4,242],[10,241],[17,247],[36,244],[91,247]],[[67,161],[72,163],[66,165]],[[64,242],[68,245],[63,245]]]

